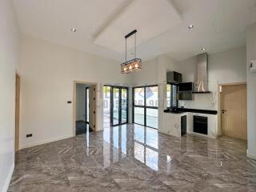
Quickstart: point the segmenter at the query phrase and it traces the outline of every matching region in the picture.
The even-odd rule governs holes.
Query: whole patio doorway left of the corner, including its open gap
[[[128,123],[128,87],[104,86],[104,128]]]

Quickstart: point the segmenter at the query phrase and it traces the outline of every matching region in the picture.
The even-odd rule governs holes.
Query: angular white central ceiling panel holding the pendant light
[[[182,22],[170,0],[135,0],[95,38],[95,43],[125,52],[124,37],[138,30],[137,45],[170,30]],[[129,42],[128,42],[129,41]],[[127,38],[127,49],[134,47],[134,36]]]

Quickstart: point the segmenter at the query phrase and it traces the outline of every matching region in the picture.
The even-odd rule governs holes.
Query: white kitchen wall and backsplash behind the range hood
[[[180,62],[183,82],[196,81],[197,58]],[[193,101],[179,102],[187,108],[218,110],[218,84],[246,82],[246,48],[240,47],[209,55],[209,90],[211,94],[194,94]]]

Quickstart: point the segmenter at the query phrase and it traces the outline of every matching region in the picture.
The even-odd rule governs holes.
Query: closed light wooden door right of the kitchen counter
[[[246,85],[222,86],[222,133],[247,139]]]

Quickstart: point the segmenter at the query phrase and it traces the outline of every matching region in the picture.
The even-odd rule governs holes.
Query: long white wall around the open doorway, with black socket
[[[75,80],[98,83],[96,128],[102,130],[102,85],[127,82],[119,62],[26,35],[20,49],[22,147],[73,136],[73,103],[66,102],[73,101]]]

